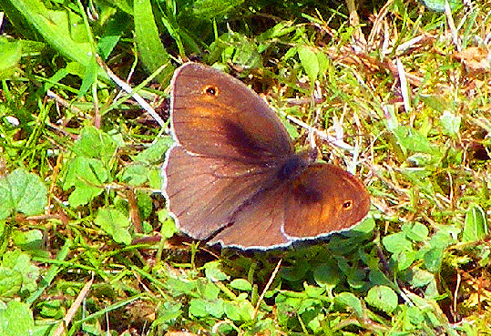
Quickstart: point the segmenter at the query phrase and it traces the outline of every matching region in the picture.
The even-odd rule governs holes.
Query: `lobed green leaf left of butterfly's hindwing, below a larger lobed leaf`
[[[116,242],[126,245],[131,243],[131,235],[128,232],[131,222],[128,216],[125,216],[117,209],[99,209],[94,222],[101,229],[104,229]]]

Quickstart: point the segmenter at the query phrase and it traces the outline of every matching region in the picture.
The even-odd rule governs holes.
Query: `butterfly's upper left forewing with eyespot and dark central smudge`
[[[176,71],[172,88],[173,133],[186,150],[258,165],[292,154],[281,120],[232,76],[189,63]]]

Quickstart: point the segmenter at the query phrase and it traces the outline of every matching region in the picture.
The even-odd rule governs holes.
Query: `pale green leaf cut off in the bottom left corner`
[[[0,335],[33,335],[34,330],[33,312],[26,303],[12,300],[6,307],[0,305]]]

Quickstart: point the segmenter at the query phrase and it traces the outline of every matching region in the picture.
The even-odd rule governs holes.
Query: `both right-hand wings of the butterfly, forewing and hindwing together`
[[[273,180],[270,188],[233,214],[233,224],[210,243],[240,249],[287,246],[294,240],[351,229],[369,208],[369,195],[357,178],[343,168],[314,163],[299,168],[290,178]]]

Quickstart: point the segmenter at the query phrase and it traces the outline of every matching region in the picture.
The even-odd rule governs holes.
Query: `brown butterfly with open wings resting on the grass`
[[[363,184],[295,153],[266,102],[239,80],[188,63],[172,80],[175,144],[162,171],[177,227],[209,244],[272,249],[351,229],[370,207]]]

